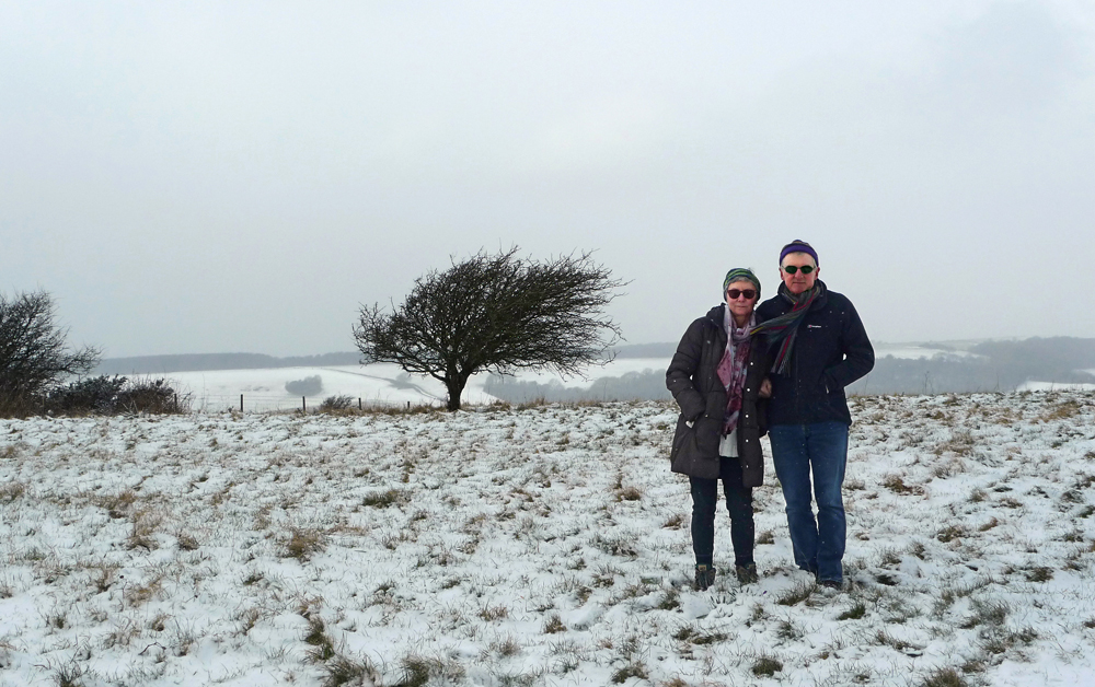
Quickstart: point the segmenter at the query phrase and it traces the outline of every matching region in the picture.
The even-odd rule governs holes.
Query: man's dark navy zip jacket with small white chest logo
[[[766,322],[788,312],[786,287],[760,304],[757,322]],[[759,338],[764,338],[763,336]],[[774,360],[779,342],[772,344]],[[852,423],[844,387],[875,366],[875,350],[867,339],[860,315],[844,295],[826,291],[810,306],[798,325],[798,334],[785,374],[770,374],[772,398],[768,424]]]

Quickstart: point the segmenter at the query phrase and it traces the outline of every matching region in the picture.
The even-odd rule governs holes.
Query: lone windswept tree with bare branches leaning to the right
[[[391,362],[439,380],[448,409],[459,410],[476,372],[572,375],[606,362],[620,328],[604,306],[623,282],[588,253],[538,263],[517,251],[481,251],[445,271],[431,270],[391,313],[362,305],[354,327],[361,363]]]

